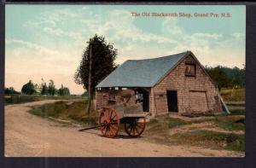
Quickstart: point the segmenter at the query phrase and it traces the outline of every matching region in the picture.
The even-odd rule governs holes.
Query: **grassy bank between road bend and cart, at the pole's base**
[[[85,113],[86,105],[86,101],[75,101],[71,105],[67,105],[66,101],[57,101],[33,107],[30,112],[44,118],[68,119],[82,125],[96,125],[97,113],[91,111],[90,116],[87,115]]]

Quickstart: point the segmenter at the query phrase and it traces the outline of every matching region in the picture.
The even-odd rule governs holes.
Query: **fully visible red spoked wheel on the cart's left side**
[[[103,107],[99,116],[99,126],[102,135],[105,137],[114,137],[119,131],[119,115],[112,107]]]

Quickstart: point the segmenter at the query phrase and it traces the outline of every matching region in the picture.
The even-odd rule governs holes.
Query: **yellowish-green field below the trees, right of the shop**
[[[245,101],[245,89],[222,89],[220,91],[224,101]]]

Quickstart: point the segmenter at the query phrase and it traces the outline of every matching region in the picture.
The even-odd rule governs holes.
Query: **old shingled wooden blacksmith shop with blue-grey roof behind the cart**
[[[96,86],[96,107],[122,102],[129,92],[129,101],[153,115],[223,111],[217,86],[190,51],[125,61]]]

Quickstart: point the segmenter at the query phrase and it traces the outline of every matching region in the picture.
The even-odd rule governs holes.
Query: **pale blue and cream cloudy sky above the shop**
[[[140,16],[133,16],[136,12]],[[149,13],[150,16],[143,16]],[[152,13],[177,14],[152,16]],[[183,13],[179,15],[180,13]],[[218,17],[209,16],[218,14]],[[221,14],[230,17],[221,17]],[[183,15],[191,17],[183,17]],[[195,17],[195,14],[209,14]],[[243,67],[245,5],[6,5],[5,86],[55,81],[82,94],[73,75],[95,34],[118,49],[117,64],[191,50],[204,66]]]

